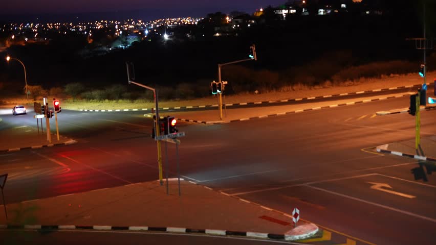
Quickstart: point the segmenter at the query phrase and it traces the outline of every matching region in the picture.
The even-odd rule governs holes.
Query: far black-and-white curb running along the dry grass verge
[[[430,85],[430,84],[428,84]],[[413,88],[420,87],[421,84],[416,85],[408,85],[408,86],[400,86],[400,87],[392,87],[392,88],[381,88],[374,90],[365,90],[351,93],[338,93],[338,94],[330,94],[330,95],[322,95],[315,97],[305,97],[305,98],[297,98],[297,99],[288,99],[288,100],[279,100],[279,101],[259,101],[259,102],[242,102],[242,103],[230,103],[225,104],[225,106],[247,106],[247,105],[260,105],[260,104],[271,104],[271,103],[288,103],[288,102],[296,102],[296,101],[311,101],[316,99],[325,99],[330,97],[339,97],[339,96],[348,96],[348,95],[356,95],[356,94],[364,94],[371,92],[382,92],[403,88]],[[218,107],[218,105],[203,105],[203,106],[178,106],[178,107],[162,107],[159,110],[186,110],[186,109],[199,109],[199,108],[210,108],[210,107]],[[89,111],[89,112],[116,112],[116,111],[150,111],[151,109],[156,108],[142,108],[142,109],[117,109],[117,110],[87,110],[87,109],[79,109],[79,111]]]

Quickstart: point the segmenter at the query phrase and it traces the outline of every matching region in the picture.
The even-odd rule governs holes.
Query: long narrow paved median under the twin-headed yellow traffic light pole
[[[161,116],[171,114],[176,116],[178,120],[188,122],[198,122],[203,124],[224,124],[233,121],[243,121],[256,118],[264,118],[270,116],[285,115],[291,113],[300,113],[304,111],[319,110],[334,108],[338,106],[347,106],[360,103],[368,103],[373,101],[393,99],[397,97],[409,96],[409,93],[397,93],[389,95],[378,95],[369,97],[360,97],[355,99],[342,99],[336,101],[327,102],[313,102],[304,104],[291,104],[280,106],[268,106],[268,107],[254,107],[254,108],[238,108],[227,109],[223,108],[223,120],[219,118],[218,107],[213,110],[205,111],[186,111],[186,112],[161,112]],[[376,112],[374,112],[376,113]],[[151,116],[151,114],[144,114],[144,116]]]

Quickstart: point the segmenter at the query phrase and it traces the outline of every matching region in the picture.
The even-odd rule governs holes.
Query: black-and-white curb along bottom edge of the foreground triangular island
[[[318,227],[314,224],[309,224],[313,230],[307,234],[301,235],[286,235],[274,233],[260,233],[250,231],[228,231],[228,230],[212,230],[212,229],[190,229],[182,227],[149,227],[149,226],[75,226],[75,225],[0,225],[0,229],[7,230],[96,230],[96,231],[159,231],[169,233],[201,233],[212,236],[243,236],[249,238],[271,239],[271,240],[301,240],[309,238],[318,232]],[[298,227],[297,227],[298,228]],[[316,230],[316,231],[315,231]],[[314,232],[315,231],[315,232]]]

